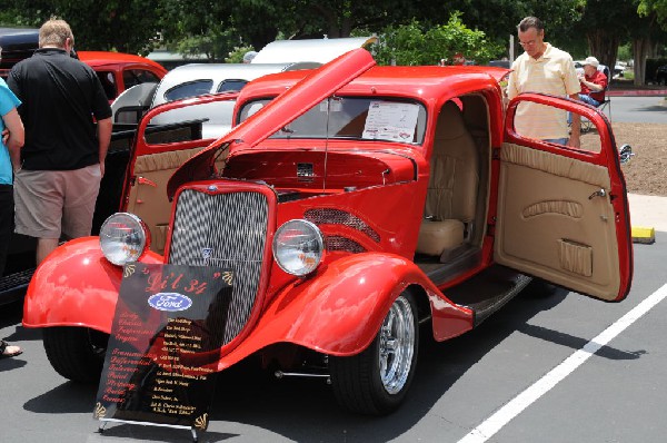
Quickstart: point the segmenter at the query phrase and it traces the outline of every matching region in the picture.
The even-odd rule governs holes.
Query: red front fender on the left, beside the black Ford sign
[[[147,253],[142,263],[162,263]],[[68,242],[37,268],[23,303],[23,326],[83,326],[111,332],[122,268],[109,263],[99,237]]]

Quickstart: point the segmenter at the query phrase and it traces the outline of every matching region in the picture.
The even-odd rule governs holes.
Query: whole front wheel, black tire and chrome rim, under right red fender
[[[364,352],[329,357],[338,403],[356,413],[385,415],[402,403],[417,367],[419,327],[411,294],[391,305],[380,331]]]

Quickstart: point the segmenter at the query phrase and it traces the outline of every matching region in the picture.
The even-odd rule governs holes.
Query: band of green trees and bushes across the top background
[[[454,11],[461,11],[455,17],[465,22],[465,31],[451,22]],[[654,42],[667,41],[665,33],[655,35],[657,26],[647,24],[661,20],[667,29],[667,0],[4,0],[0,22],[39,27],[50,16],[70,22],[80,50],[146,53],[153,46],[166,45],[186,56],[206,53],[217,61],[231,57],[235,48],[259,50],[277,36],[336,38],[384,32],[382,45],[389,45],[378,47],[378,55],[385,57],[387,48],[400,43],[395,46],[400,48],[396,57],[387,60],[436,63],[451,59],[456,49],[484,62],[506,53],[508,37],[516,36],[516,26],[526,16],[542,19],[546,40],[575,57],[590,52],[590,29],[605,29],[621,41],[648,35]],[[447,23],[445,30],[440,23]],[[482,38],[475,35],[478,31],[484,31]],[[498,46],[505,48],[500,53]],[[415,47],[422,53],[409,56]]]

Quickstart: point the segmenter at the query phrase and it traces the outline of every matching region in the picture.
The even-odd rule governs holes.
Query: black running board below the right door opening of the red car
[[[495,265],[460,285],[447,289],[446,296],[474,313],[477,327],[507,302],[512,299],[531,277],[505,266]]]

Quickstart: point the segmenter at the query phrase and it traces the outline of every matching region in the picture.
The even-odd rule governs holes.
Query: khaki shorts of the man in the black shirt
[[[38,238],[90,235],[101,178],[100,165],[19,170],[14,176],[14,230]]]

